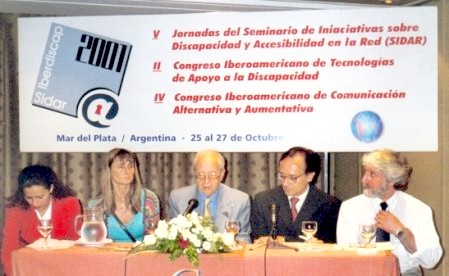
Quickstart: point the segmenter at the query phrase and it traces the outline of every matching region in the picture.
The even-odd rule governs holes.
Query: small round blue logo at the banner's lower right
[[[357,140],[370,143],[379,139],[383,123],[379,115],[372,111],[361,111],[351,121],[351,131]]]

